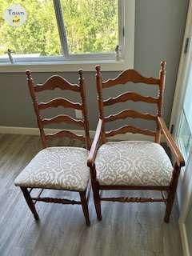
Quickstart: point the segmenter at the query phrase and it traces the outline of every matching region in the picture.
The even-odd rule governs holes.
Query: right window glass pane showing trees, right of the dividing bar
[[[114,52],[118,0],[61,0],[70,54]]]

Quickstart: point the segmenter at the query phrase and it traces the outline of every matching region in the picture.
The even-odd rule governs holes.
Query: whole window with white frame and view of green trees
[[[91,63],[116,65],[114,70],[133,66],[134,0],[17,0],[27,13],[19,27],[2,18],[12,3],[0,0],[0,70],[22,64],[38,70],[47,64],[69,65],[65,70],[73,64],[74,70]]]

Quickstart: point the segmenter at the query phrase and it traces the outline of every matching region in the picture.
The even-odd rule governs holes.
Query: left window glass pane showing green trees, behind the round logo
[[[7,49],[23,57],[61,54],[58,26],[51,0],[17,0],[26,9],[26,23],[19,27],[9,26],[4,13],[11,0],[0,0],[0,56]]]

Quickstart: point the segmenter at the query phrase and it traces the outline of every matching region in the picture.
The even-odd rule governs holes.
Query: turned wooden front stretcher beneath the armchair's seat
[[[111,202],[166,202],[164,198],[101,198],[102,201]]]

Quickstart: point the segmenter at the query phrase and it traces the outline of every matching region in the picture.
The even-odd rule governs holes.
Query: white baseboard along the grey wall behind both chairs
[[[52,134],[55,132],[58,132],[58,129],[49,129],[46,128],[45,132],[46,134]],[[71,130],[76,134],[84,134],[84,130]],[[39,135],[38,128],[32,128],[32,127],[14,127],[14,126],[0,126],[0,134],[25,134],[25,135]],[[95,131],[90,130],[90,137],[94,138]],[[110,138],[111,140],[132,140],[132,141],[154,141],[154,138],[151,136],[146,136],[143,134],[118,134],[114,136],[113,138]]]

